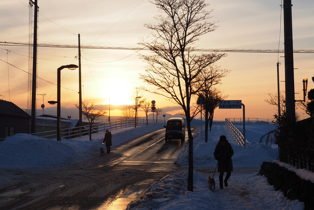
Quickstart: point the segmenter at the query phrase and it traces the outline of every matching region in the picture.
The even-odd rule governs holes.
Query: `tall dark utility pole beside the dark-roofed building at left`
[[[34,4],[34,40],[33,40],[33,75],[32,75],[32,105],[31,105],[31,121],[30,133],[36,133],[36,77],[37,77],[37,0],[30,0]]]

